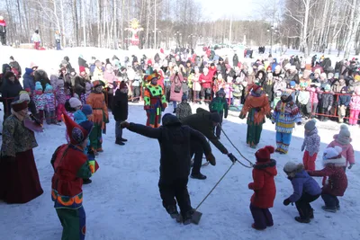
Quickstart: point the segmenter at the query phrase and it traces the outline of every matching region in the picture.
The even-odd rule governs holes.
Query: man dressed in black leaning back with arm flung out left
[[[172,218],[177,218],[177,200],[184,224],[188,224],[193,216],[193,208],[187,191],[191,145],[195,142],[199,144],[209,161],[215,162],[215,157],[212,156],[211,147],[200,132],[183,126],[180,120],[170,113],[164,115],[162,122],[163,126],[158,129],[126,121],[121,123],[121,127],[158,140],[161,153],[158,188],[163,206]]]

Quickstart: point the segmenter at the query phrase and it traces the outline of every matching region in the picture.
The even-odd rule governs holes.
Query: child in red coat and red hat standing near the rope
[[[253,169],[254,182],[248,183],[248,189],[254,190],[250,204],[251,214],[254,218],[251,227],[257,230],[263,230],[274,225],[273,216],[269,211],[269,208],[273,208],[276,195],[274,181],[277,174],[276,162],[274,159],[270,159],[270,155],[274,151],[274,147],[271,146],[257,150],[255,154],[257,164],[254,165]]]

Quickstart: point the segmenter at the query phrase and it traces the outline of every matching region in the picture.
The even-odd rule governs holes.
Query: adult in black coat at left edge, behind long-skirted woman
[[[19,96],[23,90],[22,85],[13,72],[7,72],[4,75],[4,84],[2,86],[2,97],[4,102],[4,120],[11,115],[11,103],[14,98]]]

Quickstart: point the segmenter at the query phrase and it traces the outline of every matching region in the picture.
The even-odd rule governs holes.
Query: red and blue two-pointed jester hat
[[[67,114],[63,114],[63,116],[67,126],[67,136],[70,138],[70,143],[73,145],[78,145],[84,142],[93,129],[93,122],[85,120],[80,124],[76,124],[76,122],[71,120]]]

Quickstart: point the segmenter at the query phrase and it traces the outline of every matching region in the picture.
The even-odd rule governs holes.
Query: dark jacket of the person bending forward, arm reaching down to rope
[[[211,143],[217,147],[221,153],[227,154],[228,150],[224,147],[219,139],[215,136],[214,126],[211,120],[211,112],[198,108],[196,114],[193,114],[184,120],[184,125],[188,125],[190,128],[200,131]]]

